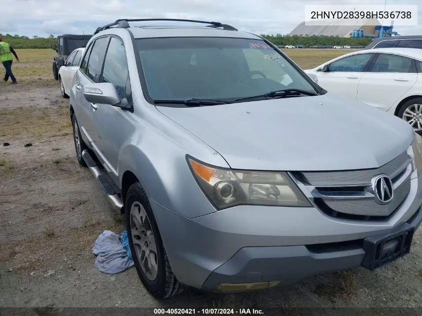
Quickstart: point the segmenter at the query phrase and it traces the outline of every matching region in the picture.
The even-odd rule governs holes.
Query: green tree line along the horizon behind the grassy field
[[[32,37],[28,36],[19,36],[17,34],[0,34],[3,37],[3,41],[9,43],[13,48],[50,48],[51,44],[57,44],[57,37],[53,34],[50,34],[48,37],[38,37],[36,35]],[[372,38],[348,38],[348,37],[339,37],[339,36],[302,36],[302,35],[268,35],[261,34],[261,36],[268,39],[275,45],[305,45],[306,47],[316,46],[316,45],[350,45],[358,46],[368,45]]]

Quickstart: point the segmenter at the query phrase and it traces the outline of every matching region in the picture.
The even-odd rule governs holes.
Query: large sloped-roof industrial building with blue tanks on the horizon
[[[350,20],[351,25],[338,25],[338,20],[326,20],[326,25],[305,25],[305,22],[300,23],[292,30],[289,35],[303,35],[303,36],[339,36],[339,37],[361,37],[361,34],[366,37],[379,37],[381,23],[378,19],[356,19]],[[384,26],[382,37],[397,35],[397,32],[392,32],[393,26]],[[355,32],[357,30],[363,30]],[[357,35],[358,34],[358,35]]]

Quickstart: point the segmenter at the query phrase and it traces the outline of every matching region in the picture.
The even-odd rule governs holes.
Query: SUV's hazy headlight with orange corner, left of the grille
[[[220,210],[235,205],[312,207],[286,172],[223,169],[187,160],[199,186]]]

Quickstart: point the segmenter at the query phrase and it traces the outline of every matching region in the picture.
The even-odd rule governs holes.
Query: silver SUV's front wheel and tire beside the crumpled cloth
[[[132,252],[133,262],[139,279],[141,279],[145,289],[157,299],[166,299],[185,292],[187,288],[177,281],[171,271],[154,214],[152,213],[147,195],[139,182],[132,184],[127,191],[125,210],[130,251]],[[133,220],[134,214],[140,215],[138,221]],[[138,223],[138,225],[135,223]],[[138,226],[141,226],[141,229],[138,229]],[[134,231],[138,231],[139,235],[134,234]],[[140,237],[141,235],[143,237]],[[134,240],[137,241],[136,248]],[[148,245],[144,249],[141,249],[140,244]],[[146,265],[147,267],[144,265],[145,268],[141,266],[140,259],[142,258],[142,254],[144,254],[143,258],[146,258],[145,249],[151,251],[149,257],[152,258],[151,262],[155,262],[156,273],[154,273],[154,269],[149,269],[149,265]]]

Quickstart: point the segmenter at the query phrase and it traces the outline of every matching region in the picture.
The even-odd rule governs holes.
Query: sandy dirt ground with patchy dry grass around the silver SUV
[[[188,291],[160,302],[133,267],[96,271],[92,245],[104,230],[120,234],[123,217],[77,164],[68,99],[51,76],[0,82],[0,307],[422,308],[422,230],[410,255],[379,271],[358,268],[247,294]]]

